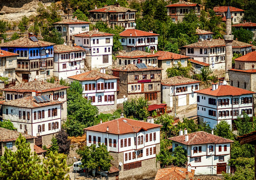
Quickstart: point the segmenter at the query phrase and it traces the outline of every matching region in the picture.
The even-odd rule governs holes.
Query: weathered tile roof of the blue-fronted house
[[[0,47],[46,47],[50,45],[55,45],[51,42],[46,42],[42,40],[38,40],[36,42],[32,41],[29,37],[21,37],[17,40],[11,40],[9,42],[5,42],[0,44]]]

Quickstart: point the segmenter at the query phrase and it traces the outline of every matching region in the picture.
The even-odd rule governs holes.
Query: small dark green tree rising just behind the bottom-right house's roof
[[[220,121],[214,128],[214,134],[227,139],[234,139],[231,126],[225,120]]]

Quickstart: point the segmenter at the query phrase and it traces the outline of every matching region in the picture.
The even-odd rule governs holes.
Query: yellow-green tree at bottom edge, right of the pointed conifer
[[[69,168],[66,162],[67,156],[61,153],[50,152],[43,161],[47,173],[43,180],[69,180]]]

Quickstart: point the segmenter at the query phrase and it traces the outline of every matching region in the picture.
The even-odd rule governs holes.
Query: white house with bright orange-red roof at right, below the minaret
[[[209,122],[211,128],[224,120],[236,130],[233,120],[243,112],[252,118],[252,96],[255,94],[252,91],[214,83],[211,88],[198,90],[196,93],[197,116],[203,118],[204,122]]]

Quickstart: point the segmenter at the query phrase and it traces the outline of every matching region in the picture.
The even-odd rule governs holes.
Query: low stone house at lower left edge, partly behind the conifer
[[[15,141],[18,139],[19,132],[15,130],[8,130],[0,127],[0,157],[5,153],[5,147],[13,152],[17,150]],[[22,133],[26,138],[27,143],[30,143],[31,151],[34,152],[34,139],[36,137]]]

